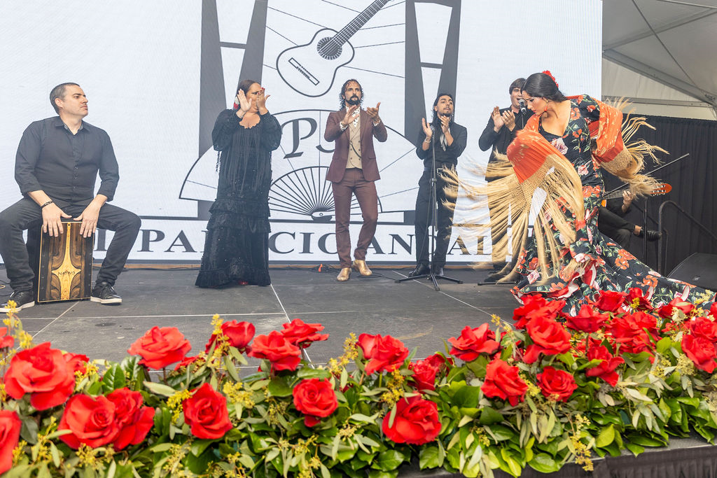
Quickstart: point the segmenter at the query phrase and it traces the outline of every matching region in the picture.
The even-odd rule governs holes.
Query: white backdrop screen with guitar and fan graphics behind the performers
[[[222,107],[230,107],[245,55],[263,48],[263,65],[252,76],[260,76],[272,95],[267,106],[284,125],[282,145],[272,156],[270,259],[336,260],[331,198],[325,197],[331,188],[323,181],[333,145],[323,140],[323,128],[327,113],[338,109],[341,84],[356,77],[364,87],[364,107],[380,101],[389,127],[389,140],[376,145],[381,204],[368,260],[413,262],[412,214],[422,163],[413,145],[419,124],[407,125],[407,118],[412,110],[429,112],[439,84],[455,85],[455,120],[468,128],[459,159],[463,175],[472,163],[488,161],[478,137],[493,106],[508,105],[508,85],[517,77],[548,69],[566,95],[600,96],[601,0],[217,0],[214,15],[208,4],[214,5],[4,1],[0,208],[19,199],[13,175],[22,131],[54,115],[48,100],[54,85],[77,82],[89,98],[87,122],[108,131],[120,164],[113,204],[143,217],[130,260],[199,261],[206,226],[201,211],[217,184],[206,118],[213,123]],[[265,21],[257,11],[265,12]],[[368,21],[342,46],[353,57],[340,67],[303,64],[318,86],[300,85],[302,78],[283,60],[308,61],[303,58],[315,48],[302,46],[317,32],[341,30],[362,12]],[[250,37],[250,29],[263,44]],[[410,41],[414,34],[417,52]],[[455,67],[455,75],[449,74]],[[407,70],[420,73],[407,80]],[[356,240],[361,218],[358,209],[353,212]],[[460,230],[453,234],[449,262],[490,260],[489,239],[482,249],[466,241],[462,252],[454,245]],[[110,233],[105,244],[109,238]],[[98,249],[95,257],[101,258],[102,242]]]

